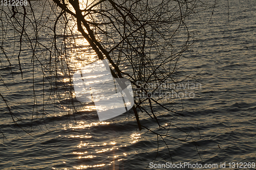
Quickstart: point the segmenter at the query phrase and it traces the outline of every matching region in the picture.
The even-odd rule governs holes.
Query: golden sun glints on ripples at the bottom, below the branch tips
[[[110,125],[110,122],[94,122],[94,123],[90,123],[87,124],[86,122],[77,122],[76,125],[73,124],[69,124],[68,126],[63,126],[63,128],[65,130],[67,129],[71,129],[71,130],[75,130],[75,129],[90,129],[93,126],[101,126],[101,125]],[[118,169],[118,164],[119,161],[125,159],[125,157],[127,156],[126,153],[124,152],[119,152],[119,148],[124,148],[124,147],[129,147],[129,143],[133,144],[139,141],[139,139],[141,138],[141,134],[139,133],[134,133],[130,135],[130,140],[126,141],[127,145],[118,145],[117,142],[115,142],[114,139],[112,139],[111,142],[104,142],[102,140],[100,140],[99,142],[95,141],[95,140],[90,140],[91,138],[94,138],[95,136],[93,136],[93,134],[91,135],[90,133],[86,133],[86,134],[81,134],[81,135],[70,135],[70,136],[66,136],[68,138],[80,138],[81,141],[80,143],[78,143],[76,146],[74,146],[75,148],[77,148],[73,154],[76,155],[77,159],[81,159],[82,162],[87,162],[87,160],[89,159],[94,159],[97,157],[108,157],[108,159],[110,160],[108,161],[104,161],[104,163],[99,163],[99,164],[80,164],[77,166],[73,166],[73,168],[76,169],[86,169],[89,167],[103,167],[103,166],[110,166],[112,169]],[[103,138],[104,136],[102,136]],[[107,139],[108,141],[110,140],[109,138]],[[113,155],[111,155],[110,153],[113,153]],[[102,155],[103,154],[103,155]],[[106,163],[105,163],[106,162]]]

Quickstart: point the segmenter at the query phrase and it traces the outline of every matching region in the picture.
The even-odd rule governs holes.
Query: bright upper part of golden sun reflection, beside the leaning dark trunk
[[[86,9],[88,7],[91,7],[92,4],[97,3],[98,1],[82,1],[79,0],[80,8]],[[67,1],[67,4],[68,1]],[[72,5],[69,4],[68,8],[75,12]],[[81,33],[77,29],[77,23],[76,19],[73,18],[71,15],[67,15],[68,17],[68,29],[66,29],[65,32],[65,43],[67,46],[67,54],[59,56],[60,59],[65,59],[66,63],[69,65],[69,68],[71,68],[70,76],[65,75],[62,70],[58,71],[58,74],[60,77],[63,77],[62,82],[66,83],[68,85],[73,86],[73,75],[76,71],[81,71],[82,67],[93,63],[98,59],[97,54],[92,50],[92,47],[90,46],[89,42],[84,38]],[[86,18],[87,20],[91,20],[89,17]],[[70,91],[66,91],[65,93],[62,93],[62,96],[65,96],[65,100],[70,100]],[[57,98],[57,96],[55,96]],[[72,98],[75,99],[75,93],[72,93]],[[65,111],[70,111],[70,108],[62,107]],[[79,111],[93,111],[96,110],[95,106],[91,105],[84,105],[82,110]]]

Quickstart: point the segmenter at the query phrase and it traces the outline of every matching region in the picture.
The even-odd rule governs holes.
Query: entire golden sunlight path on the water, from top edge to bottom
[[[82,6],[81,8],[87,8],[90,6],[92,3],[97,3],[97,1],[79,1],[80,5]],[[71,10],[74,9],[70,7]],[[72,28],[69,30],[68,35],[70,37],[74,36],[75,38],[70,38],[68,39],[67,44],[70,44],[70,51],[68,52],[68,57],[67,63],[69,63],[69,66],[74,70],[81,70],[81,68],[84,65],[93,63],[98,60],[96,53],[92,50],[89,42],[82,37],[81,33],[78,32],[77,30],[77,25],[76,25],[76,20],[70,16],[69,18],[69,28]],[[86,18],[89,19],[89,18]],[[96,18],[95,18],[96,19]],[[90,19],[89,19],[90,20]],[[65,56],[60,56],[64,58]],[[63,76],[62,72],[59,72],[60,75]],[[62,80],[64,83],[69,83],[70,78],[63,78]],[[66,94],[62,94],[66,95]],[[75,97],[75,94],[73,94],[73,98]],[[67,108],[64,108],[68,110]],[[96,107],[94,105],[86,105],[84,104],[83,108],[79,111],[84,111],[84,112],[91,112],[95,111]],[[102,141],[102,139],[105,136],[102,136],[100,140],[92,140],[92,138],[95,138],[94,134],[90,134],[90,128],[95,127],[95,126],[105,126],[105,125],[110,125],[110,122],[76,122],[76,124],[68,124],[68,125],[63,125],[63,129],[65,130],[83,130],[80,131],[80,133],[84,131],[88,131],[84,134],[70,134],[69,136],[65,136],[67,138],[74,138],[74,139],[81,139],[77,145],[74,146],[74,151],[72,154],[77,157],[78,160],[82,160],[82,162],[87,162],[87,160],[92,160],[96,159],[95,161],[91,161],[88,163],[80,163],[77,164],[76,166],[73,166],[75,169],[87,169],[87,168],[102,168],[104,169],[109,167],[111,169],[119,169],[118,164],[121,160],[125,159],[127,156],[127,153],[120,153],[118,152],[118,149],[120,147],[129,147],[129,144],[134,144],[138,142],[141,138],[141,135],[139,133],[134,133],[134,134],[129,134],[130,136],[127,136],[129,140],[125,141],[124,145],[123,144],[118,144],[115,142],[114,139],[106,138],[105,141]],[[59,135],[60,136],[60,135]],[[106,142],[108,141],[108,142]],[[127,144],[127,145],[126,145]],[[130,155],[130,154],[129,154]],[[104,158],[104,161],[99,161],[97,162],[97,158]],[[63,163],[66,163],[67,161],[64,161]],[[53,167],[53,169],[55,169]],[[68,168],[65,168],[68,169]],[[120,169],[123,169],[123,167],[120,167]]]

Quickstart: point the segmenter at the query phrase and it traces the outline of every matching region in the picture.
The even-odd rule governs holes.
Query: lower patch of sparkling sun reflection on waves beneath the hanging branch
[[[81,129],[87,131],[92,127],[104,125],[110,125],[110,122],[94,122],[88,124],[86,121],[78,121],[77,124],[69,124],[66,126],[66,128],[69,130]],[[99,128],[102,129],[102,127]],[[67,138],[80,139],[79,143],[74,145],[76,149],[74,149],[72,152],[72,154],[76,157],[76,160],[79,160],[79,163],[72,165],[72,167],[75,169],[119,169],[119,167],[122,167],[121,162],[126,159],[127,155],[129,155],[129,153],[121,151],[122,149],[126,148],[125,143],[133,143],[134,140],[138,141],[140,139],[140,134],[134,133],[127,136],[127,139],[130,140],[126,141],[126,139],[124,139],[125,143],[121,144],[114,139],[109,139],[106,136],[104,136],[106,137],[106,140],[104,140],[104,138],[102,138],[103,136],[98,137],[90,135],[90,132],[87,131],[83,134],[71,134],[66,136]],[[102,156],[105,156],[106,159],[99,161],[99,158]],[[90,162],[88,162],[89,160]]]

